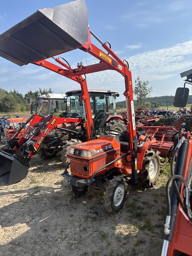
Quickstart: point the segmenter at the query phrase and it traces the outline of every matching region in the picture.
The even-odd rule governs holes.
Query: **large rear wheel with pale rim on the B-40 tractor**
[[[159,151],[155,149],[146,151],[142,169],[139,173],[139,179],[146,187],[153,187],[157,183],[160,173],[160,161]]]

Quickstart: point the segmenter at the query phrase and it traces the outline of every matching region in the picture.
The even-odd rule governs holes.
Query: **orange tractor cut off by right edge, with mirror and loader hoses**
[[[180,74],[186,76],[184,87],[177,88],[174,106],[184,108],[192,85],[192,70]],[[163,229],[161,256],[192,256],[192,134],[187,122],[180,125],[175,141],[172,177],[166,185],[167,214]]]

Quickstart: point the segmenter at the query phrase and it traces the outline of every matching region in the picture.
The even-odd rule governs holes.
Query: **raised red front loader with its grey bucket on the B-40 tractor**
[[[93,36],[102,49],[91,43]],[[110,47],[109,47],[109,46]],[[65,52],[80,49],[98,59],[97,64],[76,69],[55,58]],[[0,35],[0,56],[20,66],[29,63],[45,67],[76,81],[81,86],[81,99],[85,111],[87,139],[94,139],[93,118],[87,90],[86,74],[104,70],[114,70],[125,80],[125,98],[127,106],[127,131],[129,152],[132,163],[132,176],[137,176],[137,136],[134,118],[133,84],[128,62],[122,61],[112,50],[108,41],[102,42],[88,26],[88,10],[84,0],[76,0],[54,8],[38,10],[25,20]],[[61,66],[47,61],[54,60]]]

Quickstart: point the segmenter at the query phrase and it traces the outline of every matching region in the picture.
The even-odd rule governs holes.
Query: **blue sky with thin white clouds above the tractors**
[[[69,0],[0,1],[0,34],[19,23],[37,9],[51,8]],[[139,76],[148,80],[153,96],[175,95],[183,86],[180,73],[192,69],[191,0],[85,0],[89,26],[101,41],[129,63],[133,83]],[[95,39],[92,43],[97,45]],[[101,45],[97,45],[102,49]],[[76,68],[96,63],[89,54],[76,49],[61,55]],[[123,77],[115,71],[87,75],[89,89],[118,90],[117,101],[125,100]],[[0,57],[0,88],[29,90],[51,88],[54,93],[80,89],[79,84],[34,64],[18,66]],[[190,94],[191,93],[191,88]],[[135,97],[136,99],[136,97]]]

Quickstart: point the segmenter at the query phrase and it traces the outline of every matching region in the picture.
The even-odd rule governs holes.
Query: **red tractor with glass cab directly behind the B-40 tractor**
[[[112,132],[112,130],[120,132],[125,131],[127,120],[116,113],[116,97],[119,96],[118,91],[88,89],[88,93],[95,136],[107,134],[108,130],[113,133],[113,136],[116,136],[117,133]],[[81,99],[81,90],[69,91],[66,92],[66,95],[70,97],[70,105],[67,107],[64,117],[79,117],[84,120],[85,111]],[[70,147],[87,141],[86,138],[82,136],[82,127],[81,129],[79,128],[79,130],[76,128],[76,131],[79,131],[79,134],[76,134],[75,137],[70,136],[61,151],[61,160],[65,166],[69,163],[67,152]]]

